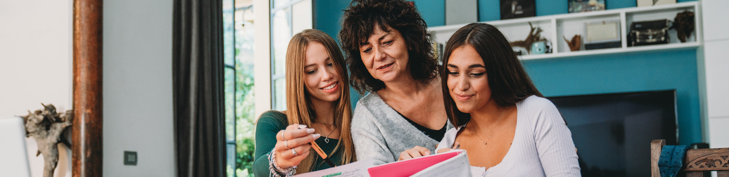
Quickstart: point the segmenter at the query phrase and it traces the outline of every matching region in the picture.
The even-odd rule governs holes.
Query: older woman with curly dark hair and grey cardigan
[[[425,21],[402,0],[354,0],[344,11],[351,85],[369,92],[352,118],[357,158],[379,165],[432,154],[452,125]]]

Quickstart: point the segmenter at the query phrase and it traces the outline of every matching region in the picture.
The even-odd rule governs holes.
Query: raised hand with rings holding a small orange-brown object
[[[276,133],[276,165],[280,168],[290,168],[299,165],[301,160],[309,154],[311,145],[309,142],[321,137],[319,134],[313,134],[313,128],[305,128],[306,125],[289,125],[286,130]],[[296,154],[294,154],[296,152]]]

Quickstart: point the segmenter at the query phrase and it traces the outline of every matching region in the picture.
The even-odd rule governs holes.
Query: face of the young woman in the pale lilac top
[[[486,65],[478,52],[465,44],[448,58],[448,91],[459,111],[472,113],[486,107],[491,99]]]

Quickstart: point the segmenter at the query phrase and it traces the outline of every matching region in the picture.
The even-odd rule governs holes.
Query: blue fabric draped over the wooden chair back
[[[674,177],[679,173],[683,166],[684,157],[686,157],[688,146],[666,145],[660,150],[658,157],[658,170],[660,177]]]

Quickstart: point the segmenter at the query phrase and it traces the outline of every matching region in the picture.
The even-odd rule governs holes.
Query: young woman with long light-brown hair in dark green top
[[[344,67],[337,43],[324,32],[307,29],[292,37],[286,52],[287,110],[266,111],[258,119],[255,176],[293,176],[329,168],[311,150],[311,141],[335,165],[356,161]]]

